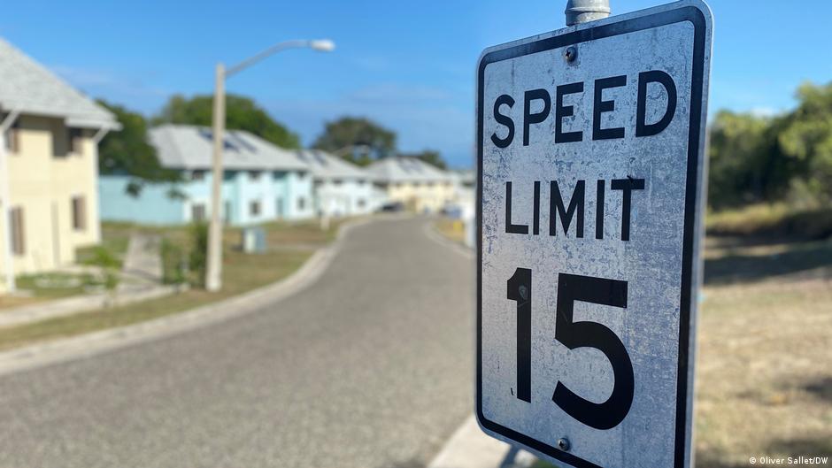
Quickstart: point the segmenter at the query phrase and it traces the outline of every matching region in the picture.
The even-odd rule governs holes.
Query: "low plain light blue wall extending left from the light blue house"
[[[98,178],[101,219],[150,225],[179,225],[187,221],[185,200],[171,197],[179,184],[144,184],[139,196],[127,194],[133,178],[127,175],[102,175]]]

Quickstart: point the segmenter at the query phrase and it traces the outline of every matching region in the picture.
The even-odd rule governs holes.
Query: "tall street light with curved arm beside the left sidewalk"
[[[222,222],[220,220],[220,203],[222,203],[222,147],[226,127],[226,78],[254,65],[281,50],[308,47],[321,52],[335,50],[335,42],[328,39],[287,41],[273,45],[262,52],[247,58],[226,70],[222,63],[217,64],[213,102],[213,180],[211,193],[211,226],[208,230],[208,265],[205,272],[205,288],[218,291],[222,287]]]

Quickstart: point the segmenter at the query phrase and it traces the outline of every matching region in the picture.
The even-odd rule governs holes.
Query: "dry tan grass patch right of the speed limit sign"
[[[706,258],[697,466],[832,455],[832,242],[734,242]]]

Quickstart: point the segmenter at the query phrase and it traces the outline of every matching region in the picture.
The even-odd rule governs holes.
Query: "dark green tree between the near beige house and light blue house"
[[[99,104],[115,114],[121,130],[110,132],[98,147],[98,171],[103,174],[128,174],[134,180],[128,192],[138,195],[148,182],[175,182],[180,175],[159,164],[156,150],[148,143],[147,121],[142,114],[99,100]]]

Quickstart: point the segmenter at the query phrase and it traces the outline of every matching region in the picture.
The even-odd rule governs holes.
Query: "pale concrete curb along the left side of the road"
[[[113,349],[181,334],[243,316],[257,310],[263,304],[285,299],[317,280],[341,249],[346,234],[353,228],[371,221],[373,219],[358,219],[344,224],[339,229],[335,242],[312,254],[297,272],[262,288],[163,318],[2,351],[0,376],[91,357]]]

